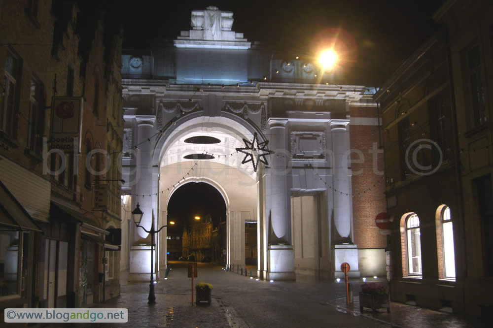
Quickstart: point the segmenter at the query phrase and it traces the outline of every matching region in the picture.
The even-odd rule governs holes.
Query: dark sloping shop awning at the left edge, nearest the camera
[[[18,230],[42,230],[17,199],[0,181],[0,225]]]

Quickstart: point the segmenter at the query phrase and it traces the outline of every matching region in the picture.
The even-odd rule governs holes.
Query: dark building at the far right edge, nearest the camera
[[[445,1],[435,21],[447,31],[457,121],[455,154],[460,163],[458,197],[463,224],[456,251],[458,279],[463,281],[464,311],[490,318],[493,308],[493,4]],[[460,214],[459,214],[460,215]],[[454,218],[453,218],[454,220]],[[454,221],[454,233],[456,233]],[[454,243],[457,245],[454,235]],[[459,310],[461,310],[459,308]]]

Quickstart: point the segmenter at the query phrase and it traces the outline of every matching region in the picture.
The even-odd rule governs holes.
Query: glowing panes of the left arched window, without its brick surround
[[[406,221],[407,259],[409,275],[421,275],[420,219],[412,214]]]

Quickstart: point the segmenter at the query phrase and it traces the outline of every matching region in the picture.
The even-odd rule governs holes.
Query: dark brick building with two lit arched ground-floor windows
[[[463,307],[463,263],[448,253],[455,268],[446,271],[444,263],[444,250],[464,249],[451,85],[439,33],[375,96],[382,106],[387,212],[394,218],[391,297],[437,309]],[[444,235],[449,222],[453,230]]]

